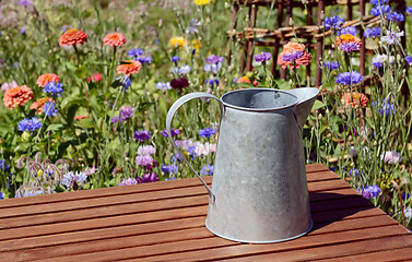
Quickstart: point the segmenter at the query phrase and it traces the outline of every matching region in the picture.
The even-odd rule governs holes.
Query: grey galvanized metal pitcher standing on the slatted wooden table
[[[191,93],[170,107],[174,115],[195,98],[219,102],[221,122],[212,188],[184,160],[209,192],[207,228],[240,242],[279,242],[311,229],[302,128],[319,91],[247,88],[224,94]]]

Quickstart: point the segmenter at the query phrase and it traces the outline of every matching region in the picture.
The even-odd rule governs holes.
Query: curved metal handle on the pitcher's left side
[[[173,147],[177,151],[177,153],[179,153],[180,157],[184,158],[184,160],[186,162],[186,164],[190,167],[190,169],[195,172],[195,175],[200,179],[200,181],[203,183],[203,186],[207,188],[208,190],[208,193],[209,193],[209,198],[212,200],[212,203],[214,203],[215,201],[215,196],[214,194],[212,193],[212,190],[209,188],[209,186],[204,182],[204,180],[201,178],[201,176],[195,170],[195,168],[189,164],[189,162],[186,159],[185,155],[181,154],[181,152],[179,151],[179,148],[176,146],[176,143],[175,143],[175,140],[173,139],[172,136],[172,131],[170,131],[170,126],[172,126],[172,120],[173,120],[173,117],[175,116],[176,111],[184,105],[186,104],[187,102],[189,100],[192,100],[192,99],[196,99],[196,98],[212,98],[212,99],[215,99],[219,102],[219,107],[221,109],[221,120],[222,120],[222,117],[223,117],[223,112],[224,112],[224,107],[223,107],[223,103],[221,99],[219,99],[217,97],[215,97],[214,95],[211,95],[211,94],[208,94],[208,93],[203,93],[203,92],[196,92],[196,93],[190,93],[190,94],[187,94],[187,95],[184,95],[183,97],[180,97],[179,99],[177,99],[170,107],[170,109],[168,110],[167,112],[167,117],[166,117],[166,132],[167,132],[167,135],[172,142],[172,145]]]

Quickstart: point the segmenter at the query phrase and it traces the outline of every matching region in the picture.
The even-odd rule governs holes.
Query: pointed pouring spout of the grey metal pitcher
[[[298,99],[298,104],[296,105],[296,118],[299,127],[303,128],[315,104],[316,97],[319,94],[319,90],[315,87],[299,87],[290,90],[287,93],[296,96]]]

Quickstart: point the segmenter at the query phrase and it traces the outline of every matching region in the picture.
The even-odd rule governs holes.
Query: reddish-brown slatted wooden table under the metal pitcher
[[[313,230],[267,245],[209,233],[197,178],[2,200],[0,261],[412,261],[409,230],[325,166],[307,177]]]

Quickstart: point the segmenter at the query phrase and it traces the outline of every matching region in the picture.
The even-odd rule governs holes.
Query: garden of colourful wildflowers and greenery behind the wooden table
[[[176,99],[314,86],[305,68],[320,67],[320,95],[303,129],[307,164],[325,164],[411,229],[412,46],[401,45],[412,33],[411,5],[401,12],[370,0],[367,14],[380,17],[373,27],[345,26],[342,10],[327,7],[321,28],[331,48],[320,62],[296,36],[278,57],[255,47],[252,70],[242,72],[243,43],[226,36],[229,2],[2,1],[0,199],[193,177],[165,131]],[[268,26],[274,15],[268,9],[257,23]],[[294,15],[292,27],[306,16]],[[246,27],[247,15],[237,23]],[[271,73],[272,63],[287,80]],[[201,176],[213,175],[219,116],[217,103],[202,99],[173,122],[177,146]]]

